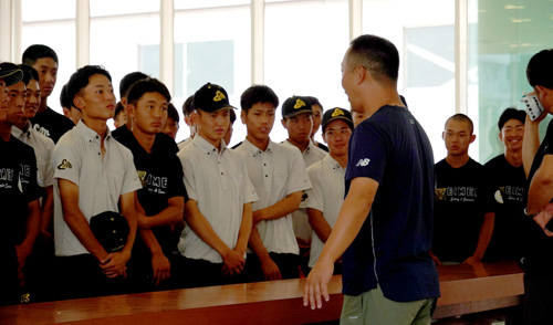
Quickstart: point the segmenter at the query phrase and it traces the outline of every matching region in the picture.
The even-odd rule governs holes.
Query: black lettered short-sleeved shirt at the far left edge
[[[36,184],[33,149],[10,137],[0,138],[0,244],[20,244],[27,234],[28,205],[43,196]]]

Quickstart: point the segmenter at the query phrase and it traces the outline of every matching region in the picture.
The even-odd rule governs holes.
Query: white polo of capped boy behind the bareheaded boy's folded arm
[[[288,139],[283,144],[298,148],[294,145],[292,145]],[[303,161],[305,162],[305,169],[307,169],[307,167],[310,167],[311,165],[323,160],[323,158],[326,157],[326,155],[327,153],[325,150],[319,148],[313,144],[313,141],[310,140],[307,148],[302,153]],[[292,218],[294,221],[295,235],[303,240],[311,240],[311,234],[313,232],[313,229],[311,228],[310,224],[307,210],[305,210],[305,201],[302,201],[302,203],[300,205],[300,209],[298,209],[298,211],[292,213]]]

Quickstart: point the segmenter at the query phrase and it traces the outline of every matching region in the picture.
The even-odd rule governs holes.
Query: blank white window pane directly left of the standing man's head
[[[293,95],[315,96],[325,109],[349,108],[342,88],[341,63],[348,46],[345,0],[290,1],[265,4],[265,83],[283,103]],[[271,137],[288,138],[279,123]],[[321,129],[317,141],[323,143]]]

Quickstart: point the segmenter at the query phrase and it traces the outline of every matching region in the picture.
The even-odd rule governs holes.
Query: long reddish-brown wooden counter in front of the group
[[[435,318],[522,302],[515,263],[439,268]],[[304,280],[283,280],[0,307],[0,324],[307,324],[340,318],[342,277],[333,276],[322,310],[303,306]]]

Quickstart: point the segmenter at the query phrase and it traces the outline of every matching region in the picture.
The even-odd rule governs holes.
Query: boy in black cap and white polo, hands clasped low
[[[252,228],[251,202],[258,200],[246,161],[222,139],[230,124],[227,92],[206,84],[194,95],[198,134],[178,153],[189,200],[179,251],[179,286],[243,282]]]

